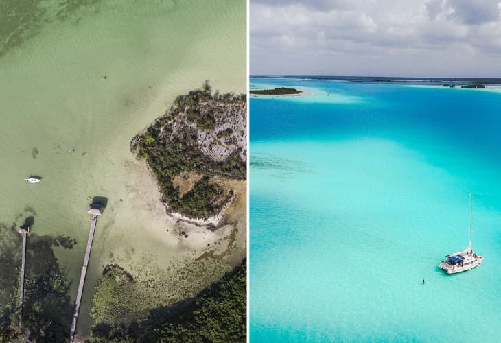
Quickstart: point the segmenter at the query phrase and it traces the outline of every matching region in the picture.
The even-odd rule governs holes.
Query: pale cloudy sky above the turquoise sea
[[[501,0],[250,0],[250,75],[501,78]]]

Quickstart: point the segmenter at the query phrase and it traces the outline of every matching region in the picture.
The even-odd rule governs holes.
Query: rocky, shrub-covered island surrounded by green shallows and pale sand
[[[246,178],[246,120],[246,95],[212,93],[205,82],[132,139],[170,213],[207,220],[231,202],[225,180]]]

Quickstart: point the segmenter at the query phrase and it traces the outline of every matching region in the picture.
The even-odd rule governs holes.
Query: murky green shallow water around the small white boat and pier
[[[221,92],[245,91],[246,3],[2,1],[0,18],[0,222],[32,215],[33,234],[77,241],[54,248],[74,298],[87,198],[108,202],[80,308],[84,335],[104,265],[161,268],[189,255],[188,245],[165,236],[172,221],[129,143],[204,80]],[[23,181],[32,175],[42,181]]]

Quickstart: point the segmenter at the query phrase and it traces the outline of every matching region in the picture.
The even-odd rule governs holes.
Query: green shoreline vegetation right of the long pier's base
[[[144,300],[139,288],[133,289],[137,285],[118,266],[106,268],[93,298],[92,343],[246,342],[246,261],[194,298],[151,308],[149,316],[133,320],[138,300]],[[121,322],[117,313],[124,311]]]

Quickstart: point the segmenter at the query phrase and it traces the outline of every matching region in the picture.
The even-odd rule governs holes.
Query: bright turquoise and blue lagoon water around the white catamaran
[[[501,94],[250,84],[308,90],[250,99],[251,342],[499,342]]]

